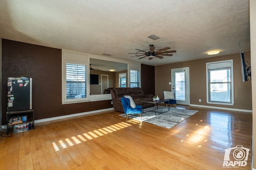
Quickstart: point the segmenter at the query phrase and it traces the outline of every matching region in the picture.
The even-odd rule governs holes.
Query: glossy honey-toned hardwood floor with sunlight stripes
[[[35,130],[0,136],[0,169],[217,170],[226,168],[225,149],[237,145],[250,151],[247,165],[236,167],[251,169],[251,113],[177,108],[199,112],[170,129],[126,122],[116,111],[37,123]]]

